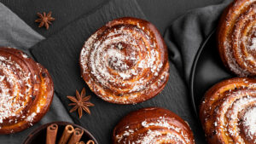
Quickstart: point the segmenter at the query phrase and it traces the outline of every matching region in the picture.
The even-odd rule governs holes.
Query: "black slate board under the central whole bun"
[[[92,95],[91,102],[96,106],[90,108],[91,115],[85,114],[79,119],[77,112],[73,112],[70,116],[76,124],[84,126],[95,135],[100,143],[111,143],[113,127],[120,118],[142,107],[165,107],[176,112],[189,122],[194,130],[196,142],[205,143],[204,135],[198,134],[196,130],[199,125],[191,114],[187,88],[172,63],[166,88],[160,95],[137,105],[116,105],[102,101],[90,91],[80,77],[79,53],[84,41],[108,21],[124,16],[146,19],[136,0],[113,0],[32,47],[32,55],[49,70],[54,80],[55,92],[67,111],[71,107],[67,106],[70,101],[66,95],[75,95],[75,89],[81,90],[85,87],[86,94]]]

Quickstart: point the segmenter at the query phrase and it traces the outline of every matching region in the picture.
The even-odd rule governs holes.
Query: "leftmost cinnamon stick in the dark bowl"
[[[55,144],[57,132],[58,132],[57,124],[50,124],[47,127],[46,144]]]

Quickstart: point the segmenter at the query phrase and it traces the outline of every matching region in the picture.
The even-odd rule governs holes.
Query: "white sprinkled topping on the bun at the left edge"
[[[19,97],[26,99],[24,93],[20,93],[21,84],[26,85],[26,95],[32,95],[32,87],[30,85],[31,73],[23,73],[22,68],[15,63],[11,58],[0,56],[0,70],[3,76],[0,76],[0,123],[3,123],[5,118],[18,116],[25,105],[19,101]],[[19,75],[19,78],[17,76]],[[11,88],[10,86],[13,86]]]

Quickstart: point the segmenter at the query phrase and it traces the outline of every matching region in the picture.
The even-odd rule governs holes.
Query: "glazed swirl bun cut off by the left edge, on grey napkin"
[[[49,72],[18,49],[0,48],[0,134],[43,118],[54,94]]]

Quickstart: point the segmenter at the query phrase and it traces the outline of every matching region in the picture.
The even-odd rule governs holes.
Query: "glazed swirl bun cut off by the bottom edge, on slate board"
[[[113,144],[194,144],[189,124],[175,113],[148,107],[131,112],[113,130]]]

